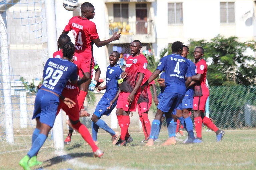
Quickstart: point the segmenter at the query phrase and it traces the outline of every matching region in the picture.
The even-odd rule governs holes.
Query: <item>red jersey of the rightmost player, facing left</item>
[[[200,83],[196,83],[195,85],[195,93],[194,96],[209,96],[209,88],[206,84],[206,74],[207,74],[207,65],[205,60],[201,59],[196,64],[196,74],[202,74]],[[196,95],[197,94],[197,95]]]

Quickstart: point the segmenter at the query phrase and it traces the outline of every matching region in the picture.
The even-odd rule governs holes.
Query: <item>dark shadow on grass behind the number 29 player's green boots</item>
[[[54,164],[58,164],[58,163],[61,163],[61,162],[66,162],[68,160],[71,160],[71,159],[74,159],[74,158],[82,158],[82,157],[93,157],[93,153],[70,153],[70,154],[66,154],[66,155],[61,155],[61,156],[56,156],[56,157],[53,157],[51,159],[48,159],[44,162],[44,164],[47,164],[47,165],[44,165],[44,168],[45,167],[50,167]]]

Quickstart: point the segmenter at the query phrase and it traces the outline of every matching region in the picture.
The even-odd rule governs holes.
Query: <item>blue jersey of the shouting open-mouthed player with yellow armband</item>
[[[102,98],[105,97],[109,101],[112,101],[115,98],[118,91],[117,80],[120,79],[122,72],[123,70],[119,67],[118,64],[114,67],[110,67],[110,65],[108,66],[106,72],[106,92]]]

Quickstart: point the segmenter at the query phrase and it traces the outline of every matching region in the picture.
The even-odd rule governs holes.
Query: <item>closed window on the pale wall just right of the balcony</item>
[[[182,24],[182,3],[168,3],[168,24]]]

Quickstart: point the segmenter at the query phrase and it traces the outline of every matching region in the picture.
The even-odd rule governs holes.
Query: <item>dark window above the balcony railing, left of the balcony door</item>
[[[128,22],[128,4],[113,4],[114,22]]]

